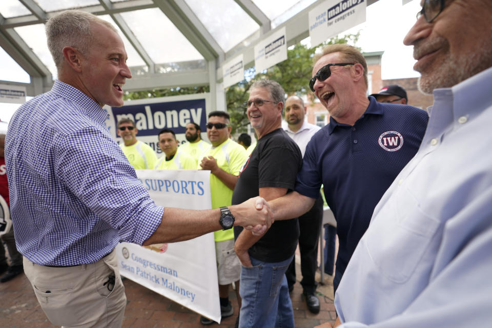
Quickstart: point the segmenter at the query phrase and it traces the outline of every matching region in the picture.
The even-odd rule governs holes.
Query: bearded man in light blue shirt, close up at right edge
[[[492,3],[421,5],[403,43],[434,105],[348,264],[335,297],[344,328],[492,322]]]

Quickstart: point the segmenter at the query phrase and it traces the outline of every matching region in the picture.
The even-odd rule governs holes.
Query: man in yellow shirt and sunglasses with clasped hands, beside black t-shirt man
[[[207,137],[212,146],[203,152],[198,165],[199,170],[210,170],[210,192],[212,208],[231,206],[232,193],[236,186],[239,171],[248,159],[246,150],[230,138],[231,125],[227,112],[213,111],[209,113]],[[234,253],[234,231],[218,230],[214,232],[215,252],[217,258],[217,276],[219,283],[220,311],[222,317],[234,314],[229,301],[229,286],[236,283],[236,295],[239,307],[239,274],[241,263]],[[212,324],[214,321],[201,317],[201,324]]]

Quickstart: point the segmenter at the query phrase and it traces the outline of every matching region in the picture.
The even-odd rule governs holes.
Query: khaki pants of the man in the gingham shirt
[[[66,268],[44,267],[24,257],[24,272],[51,323],[121,327],[127,298],[114,250],[95,263]]]

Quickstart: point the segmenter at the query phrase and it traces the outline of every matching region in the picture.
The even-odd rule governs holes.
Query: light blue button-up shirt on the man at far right
[[[434,91],[341,280],[341,327],[492,325],[492,68]]]

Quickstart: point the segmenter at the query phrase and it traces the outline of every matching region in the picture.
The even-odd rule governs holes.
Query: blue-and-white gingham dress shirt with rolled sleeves
[[[106,111],[55,81],[21,106],[5,140],[10,209],[20,253],[40,265],[93,263],[119,241],[141,244],[154,204],[105,127]]]

